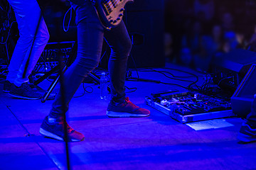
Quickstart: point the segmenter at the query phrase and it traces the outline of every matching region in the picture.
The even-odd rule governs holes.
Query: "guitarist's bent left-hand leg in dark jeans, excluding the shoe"
[[[77,9],[77,16],[80,15],[80,8]],[[90,10],[88,6],[86,6],[86,9]],[[91,13],[96,15],[96,13]],[[71,64],[64,74],[65,112],[68,111],[68,104],[82,81],[87,77],[87,74],[89,74],[99,64],[102,50],[104,33],[102,25],[96,16],[90,16],[87,19],[83,19],[78,23],[77,28],[78,55],[75,62]],[[61,98],[62,94],[59,92],[55,98],[55,102],[53,103],[53,108],[50,111],[50,117],[58,118],[62,116]]]

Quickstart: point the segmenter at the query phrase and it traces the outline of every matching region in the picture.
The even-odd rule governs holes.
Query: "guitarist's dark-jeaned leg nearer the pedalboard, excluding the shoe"
[[[123,21],[117,28],[112,28],[112,30],[107,31],[105,38],[111,48],[108,67],[110,72],[112,100],[122,102],[125,99],[124,81],[127,72],[128,56],[132,49],[132,42]]]

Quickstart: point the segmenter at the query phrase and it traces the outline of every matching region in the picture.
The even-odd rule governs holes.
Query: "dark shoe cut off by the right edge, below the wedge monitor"
[[[256,142],[256,128],[252,128],[247,123],[242,123],[242,127],[238,132],[238,140],[240,142]]]

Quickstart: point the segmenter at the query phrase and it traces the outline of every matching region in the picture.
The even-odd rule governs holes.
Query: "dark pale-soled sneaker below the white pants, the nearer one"
[[[41,98],[41,94],[38,91],[31,89],[31,86],[28,83],[21,84],[20,87],[11,84],[10,93],[11,96],[16,98],[36,100]]]

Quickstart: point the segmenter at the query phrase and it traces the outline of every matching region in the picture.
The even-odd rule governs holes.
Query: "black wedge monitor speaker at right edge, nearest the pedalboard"
[[[231,97],[233,113],[240,118],[246,118],[250,113],[252,101],[256,94],[256,64],[252,64],[249,71]]]

